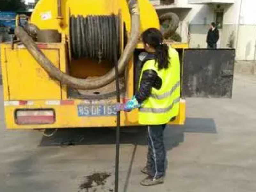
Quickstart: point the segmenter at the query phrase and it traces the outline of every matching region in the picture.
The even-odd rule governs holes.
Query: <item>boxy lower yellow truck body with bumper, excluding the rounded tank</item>
[[[65,42],[54,44],[38,44],[45,55],[66,72]],[[187,44],[173,44],[178,49],[184,49]],[[141,44],[138,44],[141,48]],[[78,116],[79,105],[115,104],[116,98],[108,100],[84,100],[68,98],[65,85],[52,79],[34,60],[23,45],[15,44],[14,49],[8,43],[1,44],[1,65],[4,92],[4,111],[7,129],[46,129],[46,128],[84,128],[116,126],[116,116]],[[133,65],[128,67],[129,98],[133,92]],[[51,109],[54,111],[53,124],[19,125],[16,121],[17,110]],[[97,110],[97,109],[95,109]],[[185,121],[185,100],[180,100],[180,112],[170,124],[182,125]],[[121,113],[121,126],[140,126],[138,110],[131,113]]]

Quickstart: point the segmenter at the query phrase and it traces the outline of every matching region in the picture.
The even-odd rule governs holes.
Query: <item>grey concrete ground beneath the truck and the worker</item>
[[[139,185],[145,130],[122,133],[119,191],[255,192],[256,76],[236,75],[233,93],[232,100],[187,99],[187,124],[165,131],[163,185]],[[61,130],[50,139],[38,131],[7,131],[2,94],[0,100],[1,192],[113,191],[113,130]]]

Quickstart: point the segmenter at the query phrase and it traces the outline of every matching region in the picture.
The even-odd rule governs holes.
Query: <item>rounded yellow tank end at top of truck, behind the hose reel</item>
[[[141,15],[141,31],[150,27],[159,28],[159,20],[156,11],[148,0],[138,0]],[[31,23],[40,29],[57,29],[60,33],[69,34],[69,15],[111,15],[121,13],[130,31],[130,14],[126,0],[62,0],[62,23],[57,19],[57,1],[40,0],[31,16]],[[150,13],[150,19],[149,15]]]

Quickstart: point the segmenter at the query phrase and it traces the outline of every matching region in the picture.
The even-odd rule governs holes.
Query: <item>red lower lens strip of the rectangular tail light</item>
[[[19,125],[25,124],[53,124],[54,116],[17,116],[16,122]]]

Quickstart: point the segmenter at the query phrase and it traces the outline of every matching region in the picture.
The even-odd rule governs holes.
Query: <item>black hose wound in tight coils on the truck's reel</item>
[[[117,26],[115,28],[114,26]],[[120,56],[120,19],[116,15],[78,15],[70,17],[70,45],[74,59],[92,58],[113,61],[114,50]],[[117,47],[114,49],[113,33],[116,33]]]

